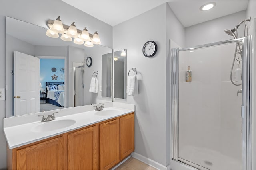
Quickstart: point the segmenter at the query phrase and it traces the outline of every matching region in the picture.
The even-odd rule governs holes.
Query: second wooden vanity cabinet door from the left
[[[98,170],[98,125],[68,134],[68,169]]]

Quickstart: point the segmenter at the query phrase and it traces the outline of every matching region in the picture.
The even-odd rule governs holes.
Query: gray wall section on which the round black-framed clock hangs
[[[166,98],[169,98],[166,94],[166,20],[176,25],[172,29],[168,26],[168,38],[184,44],[184,28],[169,8],[164,3],[113,27],[113,47],[127,49],[127,73],[130,68],[137,68],[139,86],[138,96],[115,101],[136,105],[135,152],[164,166],[170,164],[170,131],[166,129],[170,124],[166,119],[169,116],[166,114]],[[156,55],[151,58],[142,54],[142,47],[149,40],[158,45]]]

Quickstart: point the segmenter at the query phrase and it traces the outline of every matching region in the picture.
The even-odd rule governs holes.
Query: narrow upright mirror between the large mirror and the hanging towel
[[[114,98],[126,99],[127,50],[114,52]]]

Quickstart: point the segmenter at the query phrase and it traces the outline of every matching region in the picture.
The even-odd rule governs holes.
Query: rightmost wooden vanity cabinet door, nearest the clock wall
[[[120,118],[120,159],[134,151],[134,114]]]

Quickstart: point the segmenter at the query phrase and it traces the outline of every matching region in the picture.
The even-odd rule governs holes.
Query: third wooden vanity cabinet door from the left
[[[120,160],[119,119],[100,124],[100,170],[108,170]]]

